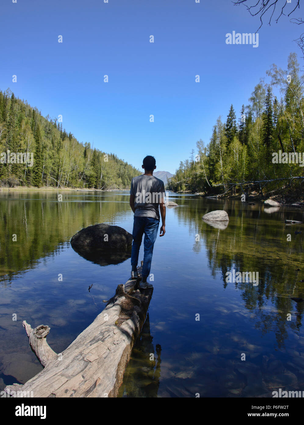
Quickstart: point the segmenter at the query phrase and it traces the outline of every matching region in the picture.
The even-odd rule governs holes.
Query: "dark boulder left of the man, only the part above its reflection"
[[[122,227],[100,223],[81,229],[71,239],[71,245],[81,252],[98,249],[106,253],[125,253],[131,250],[132,235]]]

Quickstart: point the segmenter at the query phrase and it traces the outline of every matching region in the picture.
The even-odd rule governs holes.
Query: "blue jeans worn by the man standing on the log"
[[[142,278],[147,279],[151,269],[154,242],[157,238],[159,220],[152,217],[134,217],[133,225],[133,244],[131,253],[131,265],[137,266],[139,248],[142,244],[142,235],[144,238],[144,263],[142,266]]]

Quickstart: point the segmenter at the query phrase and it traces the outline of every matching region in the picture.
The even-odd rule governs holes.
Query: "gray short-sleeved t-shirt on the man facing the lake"
[[[159,203],[165,198],[165,185],[154,176],[133,177],[130,195],[135,196],[134,217],[152,217],[160,220]]]

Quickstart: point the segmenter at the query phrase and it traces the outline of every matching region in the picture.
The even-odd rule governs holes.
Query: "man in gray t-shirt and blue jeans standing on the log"
[[[142,265],[142,281],[140,288],[152,288],[147,278],[151,269],[153,246],[157,237],[159,227],[159,208],[162,216],[162,227],[159,236],[165,235],[165,186],[164,182],[153,176],[156,169],[156,161],[153,156],[146,156],[142,161],[142,168],[145,174],[132,178],[130,190],[130,207],[134,212],[133,244],[131,254],[131,278],[138,278],[137,263],[139,248],[144,238],[144,261]]]

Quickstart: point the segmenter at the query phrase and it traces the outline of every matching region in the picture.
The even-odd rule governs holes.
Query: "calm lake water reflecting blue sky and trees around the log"
[[[301,225],[284,224],[303,220],[303,212],[173,193],[170,200],[179,206],[167,208],[166,234],[154,246],[153,297],[120,397],[272,397],[278,388],[304,390],[304,302],[290,299],[304,298],[303,235],[295,235]],[[229,214],[226,229],[201,219],[218,209]],[[0,218],[3,390],[42,370],[23,320],[50,326],[48,343],[60,353],[130,276],[129,259],[93,263],[71,248],[71,237],[97,223],[132,232],[133,213],[128,192],[64,192],[62,202],[56,192],[1,192]],[[258,272],[259,284],[226,283],[231,269]]]

